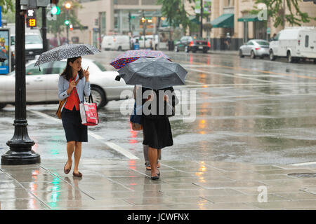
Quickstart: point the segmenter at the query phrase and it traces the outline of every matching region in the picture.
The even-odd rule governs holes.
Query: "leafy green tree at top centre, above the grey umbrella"
[[[191,3],[192,0],[188,1]],[[158,0],[157,4],[162,5],[162,16],[166,17],[171,27],[182,25],[183,31],[185,31],[190,25],[183,0]]]

